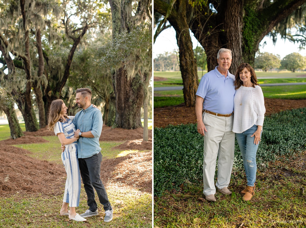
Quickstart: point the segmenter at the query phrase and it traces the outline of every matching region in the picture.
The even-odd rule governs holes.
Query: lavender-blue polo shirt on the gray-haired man
[[[235,76],[227,71],[222,75],[217,66],[203,75],[196,95],[204,98],[203,110],[219,114],[230,114],[234,110]]]

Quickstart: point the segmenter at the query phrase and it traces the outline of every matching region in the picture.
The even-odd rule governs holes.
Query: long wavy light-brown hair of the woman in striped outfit
[[[53,131],[55,123],[57,121],[64,121],[61,119],[61,111],[64,101],[62,99],[57,99],[52,101],[50,108],[49,108],[49,117],[48,117],[48,126],[47,129],[49,131]],[[65,118],[68,118],[67,115],[64,115]]]

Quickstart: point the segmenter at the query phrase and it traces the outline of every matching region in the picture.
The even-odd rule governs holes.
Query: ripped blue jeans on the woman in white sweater
[[[253,125],[251,128],[242,133],[236,133],[236,139],[242,155],[243,166],[245,174],[247,176],[248,186],[254,186],[254,183],[256,181],[256,152],[259,144],[254,144],[254,136],[251,137],[251,135],[256,132],[256,130],[257,125]]]

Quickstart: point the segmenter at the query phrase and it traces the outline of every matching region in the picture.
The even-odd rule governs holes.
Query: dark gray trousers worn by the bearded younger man
[[[91,211],[96,211],[98,209],[98,205],[95,201],[94,188],[98,194],[100,203],[103,204],[104,210],[107,211],[112,209],[104,185],[100,179],[101,161],[101,152],[89,158],[79,158],[80,173],[87,194],[87,204]]]

